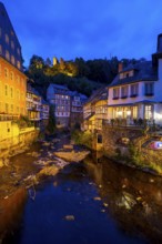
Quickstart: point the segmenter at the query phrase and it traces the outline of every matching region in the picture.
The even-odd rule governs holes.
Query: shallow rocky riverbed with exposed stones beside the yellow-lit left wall
[[[7,160],[0,169],[0,199],[8,199],[19,187],[30,187],[45,176],[55,175],[70,162],[82,161],[90,152],[70,141],[53,139],[36,143],[30,150]]]

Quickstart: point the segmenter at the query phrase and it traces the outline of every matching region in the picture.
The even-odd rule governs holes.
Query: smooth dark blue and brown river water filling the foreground
[[[38,185],[34,201],[20,192],[12,204],[21,196],[17,231],[2,244],[162,243],[162,179],[98,155]]]

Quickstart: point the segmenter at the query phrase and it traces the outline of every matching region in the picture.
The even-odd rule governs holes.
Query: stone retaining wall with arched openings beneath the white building
[[[100,146],[97,142],[98,134],[102,135]],[[143,130],[134,128],[103,126],[102,131],[93,134],[93,149],[102,148],[104,155],[128,164],[136,164],[140,167],[149,167],[162,174],[162,150],[149,149],[144,143],[155,139],[154,134],[144,134]],[[123,141],[122,141],[123,140]],[[124,143],[125,142],[125,143]],[[126,143],[128,142],[128,143]],[[130,144],[133,150],[130,150]],[[130,160],[129,160],[130,159]]]

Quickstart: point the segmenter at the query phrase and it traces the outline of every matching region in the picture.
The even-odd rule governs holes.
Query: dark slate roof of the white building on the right
[[[134,70],[133,77],[120,79],[120,73],[123,73],[130,70]],[[120,73],[114,78],[114,80],[109,85],[109,88],[121,85],[121,84],[134,83],[139,81],[156,81],[158,80],[156,68],[152,65],[152,61],[143,61],[143,62],[139,62],[135,64],[130,64],[129,67],[123,69]]]

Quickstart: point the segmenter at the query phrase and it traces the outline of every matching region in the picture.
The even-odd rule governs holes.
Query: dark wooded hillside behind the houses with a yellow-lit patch
[[[123,65],[128,65],[141,60],[122,59],[119,61],[117,57],[112,57],[110,60],[84,61],[82,58],[75,58],[75,60],[64,61],[61,58],[58,61],[55,58],[53,65],[49,58],[43,60],[41,57],[32,55],[26,74],[34,81],[33,87],[44,99],[50,83],[67,85],[72,91],[90,96],[94,90],[112,82],[121,61]]]

